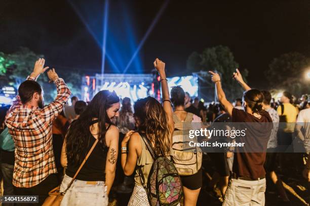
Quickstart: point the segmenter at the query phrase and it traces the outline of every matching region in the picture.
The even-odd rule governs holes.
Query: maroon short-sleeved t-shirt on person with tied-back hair
[[[261,118],[256,118],[243,110],[232,109],[232,122],[241,123],[240,129],[246,128],[244,137],[236,137],[236,142],[245,142],[244,147],[236,147],[235,149],[232,171],[239,177],[257,179],[266,174],[264,170],[265,151],[273,129],[273,121],[266,111],[261,111],[260,115]]]

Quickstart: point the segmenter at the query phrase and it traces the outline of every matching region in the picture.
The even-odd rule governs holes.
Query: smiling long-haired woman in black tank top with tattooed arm
[[[61,164],[67,167],[60,191],[63,192],[96,139],[98,143],[61,205],[107,205],[118,158],[119,130],[111,125],[118,117],[120,99],[115,92],[99,91],[80,118],[69,128],[62,148]]]

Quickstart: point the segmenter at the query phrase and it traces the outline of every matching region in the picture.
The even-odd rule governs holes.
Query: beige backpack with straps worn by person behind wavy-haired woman
[[[172,144],[172,156],[174,165],[179,175],[187,176],[198,172],[202,164],[202,150],[200,147],[189,146],[190,141],[197,142],[197,139],[190,139],[189,130],[193,129],[191,123],[193,114],[187,113],[184,122],[173,114],[174,132]]]

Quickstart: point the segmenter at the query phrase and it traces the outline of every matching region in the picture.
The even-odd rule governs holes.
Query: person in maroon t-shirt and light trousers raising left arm
[[[231,116],[232,122],[240,123],[240,127],[244,127],[245,122],[256,123],[247,128],[245,136],[236,138],[236,142],[244,142],[245,147],[235,148],[233,174],[229,180],[223,205],[252,205],[253,203],[264,205],[265,151],[273,125],[263,124],[272,123],[269,114],[262,109],[263,94],[257,89],[246,89],[243,93],[243,110],[238,110],[226,99],[219,74],[212,71],[209,73],[215,83],[218,100]]]

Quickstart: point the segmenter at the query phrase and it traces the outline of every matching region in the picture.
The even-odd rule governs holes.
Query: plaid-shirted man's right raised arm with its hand
[[[51,104],[44,107],[44,109],[41,111],[41,115],[47,122],[52,123],[58,114],[63,110],[63,107],[70,97],[71,91],[63,79],[58,77],[55,69],[48,71],[48,76],[57,87],[57,96]]]

